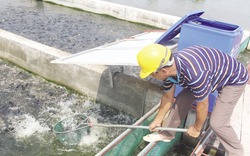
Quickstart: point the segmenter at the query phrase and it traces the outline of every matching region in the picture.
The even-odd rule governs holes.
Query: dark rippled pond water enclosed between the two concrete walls
[[[36,0],[1,0],[0,14],[0,29],[70,53],[152,29]]]

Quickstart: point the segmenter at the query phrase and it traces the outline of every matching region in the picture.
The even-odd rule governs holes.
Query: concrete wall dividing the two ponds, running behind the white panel
[[[50,63],[67,55],[70,54],[0,30],[0,58],[45,79],[70,87],[134,117],[141,117],[160,100],[156,98],[161,95],[159,87],[123,73],[114,75],[112,88],[106,66]],[[156,97],[151,98],[152,95]]]

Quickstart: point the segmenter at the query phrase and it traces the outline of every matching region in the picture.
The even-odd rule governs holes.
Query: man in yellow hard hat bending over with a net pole
[[[178,127],[190,106],[196,102],[196,119],[187,134],[198,137],[208,114],[208,95],[217,90],[210,126],[229,156],[244,155],[243,147],[230,125],[233,109],[248,81],[247,70],[241,63],[214,48],[193,46],[172,54],[159,44],[144,47],[138,53],[137,61],[141,67],[141,78],[152,76],[164,82],[164,94],[159,111],[149,125],[150,131],[159,126]],[[172,105],[175,84],[184,89]],[[144,140],[170,141],[174,136],[174,132],[161,131],[145,136]]]

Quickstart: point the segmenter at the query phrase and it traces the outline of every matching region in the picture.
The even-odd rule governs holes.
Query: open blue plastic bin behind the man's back
[[[243,30],[238,25],[196,18],[182,25],[177,49],[203,45],[236,57],[242,35]]]

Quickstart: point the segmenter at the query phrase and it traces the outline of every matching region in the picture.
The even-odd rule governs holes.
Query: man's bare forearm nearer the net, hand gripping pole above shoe
[[[165,92],[162,95],[159,111],[156,117],[154,118],[154,121],[149,125],[150,131],[154,131],[156,127],[161,127],[162,121],[173,103],[174,92],[175,92],[175,85],[173,85],[173,87],[168,92]]]

